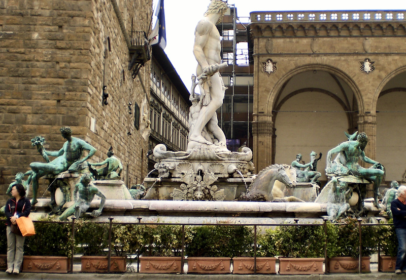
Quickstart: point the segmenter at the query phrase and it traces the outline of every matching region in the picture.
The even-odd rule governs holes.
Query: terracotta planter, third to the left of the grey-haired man
[[[279,274],[323,274],[324,258],[279,258]]]

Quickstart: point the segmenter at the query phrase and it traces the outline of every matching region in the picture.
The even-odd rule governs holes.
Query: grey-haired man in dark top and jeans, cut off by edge
[[[391,203],[390,209],[399,242],[395,273],[406,273],[406,186],[399,187],[397,198]]]

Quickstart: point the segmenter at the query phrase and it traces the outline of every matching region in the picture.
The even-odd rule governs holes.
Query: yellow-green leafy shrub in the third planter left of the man
[[[324,257],[325,234],[320,225],[285,225],[275,229],[275,247],[281,256]]]

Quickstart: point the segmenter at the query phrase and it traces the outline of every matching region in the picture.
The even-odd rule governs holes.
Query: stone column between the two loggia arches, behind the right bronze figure
[[[365,132],[368,136],[368,145],[365,147],[365,155],[376,160],[377,152],[377,115],[376,113],[364,113],[358,115],[358,132]],[[379,162],[379,161],[378,161]],[[368,165],[369,166],[369,165]]]

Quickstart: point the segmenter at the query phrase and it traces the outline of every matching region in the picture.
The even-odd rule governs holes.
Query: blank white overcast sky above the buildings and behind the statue
[[[157,2],[158,0],[154,0],[154,7]],[[228,0],[228,5],[236,7],[241,22],[248,22],[250,12],[253,11],[404,10],[402,3],[382,0]],[[209,4],[210,0],[164,0],[166,23],[164,51],[187,89],[190,89],[190,77],[195,72],[197,65],[192,52],[194,28]]]

